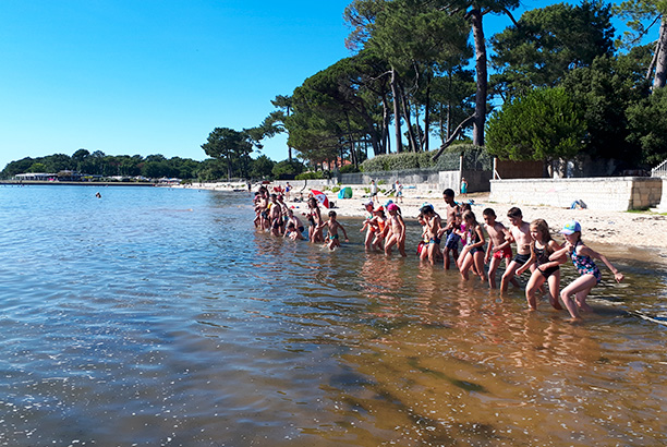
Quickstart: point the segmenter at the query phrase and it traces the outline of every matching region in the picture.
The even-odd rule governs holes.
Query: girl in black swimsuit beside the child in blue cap
[[[517,269],[517,275],[524,273],[530,266],[535,263],[533,274],[525,286],[525,299],[527,300],[531,311],[537,310],[537,299],[535,292],[542,285],[547,281],[549,303],[554,309],[562,310],[558,303],[558,291],[560,290],[560,267],[565,263],[565,254],[560,257],[551,259],[549,256],[562,249],[556,241],[551,239],[549,226],[544,219],[535,219],[530,225],[531,228],[531,257],[529,261]]]

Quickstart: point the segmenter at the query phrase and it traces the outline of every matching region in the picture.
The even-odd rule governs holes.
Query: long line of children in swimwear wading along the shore
[[[397,246],[401,256],[405,254],[405,222],[400,207],[389,201],[385,206],[375,206],[375,197],[364,204],[371,214],[361,229],[366,231],[364,245],[367,251],[383,251],[390,255]],[[598,252],[586,246],[581,239],[581,226],[577,221],[567,222],[560,231],[565,244],[560,245],[551,238],[549,227],[544,219],[535,219],[530,224],[523,220],[521,209],[512,207],[508,210],[509,228],[497,221],[492,208],[483,210],[484,224],[480,224],[470,204],[454,202],[454,192],[447,189],[442,193],[445,216],[442,219],[433,205],[424,204],[420,209],[417,220],[422,226],[422,241],[417,246],[420,259],[432,264],[442,263],[445,269],[456,264],[463,279],[469,279],[470,271],[482,281],[488,281],[490,288],[497,287],[496,275],[505,259],[506,268],[500,278],[500,290],[507,291],[510,283],[519,287],[517,276],[530,270],[525,286],[525,298],[531,310],[537,309],[537,292],[546,291],[549,302],[557,310],[565,304],[573,319],[580,319],[580,311],[591,311],[585,300],[591,289],[599,283],[601,271],[593,259],[601,259],[620,282],[623,275]],[[311,242],[325,242],[333,250],[340,246],[339,231],[342,231],[345,242],[349,242],[345,229],[336,219],[336,212],[329,212],[329,219],[324,220],[318,202],[310,197],[308,212],[305,214]],[[305,239],[304,227],[294,216],[282,197],[268,194],[260,189],[255,195],[255,225],[270,230],[274,235],[282,235],[292,240]],[[387,212],[387,214],[385,213]],[[324,229],[327,228],[327,237]],[[486,241],[488,235],[488,243]],[[445,241],[444,247],[440,246]],[[517,254],[511,244],[516,245]],[[461,250],[459,250],[461,245]],[[486,245],[486,247],[485,247]],[[560,265],[571,258],[580,277],[560,290]],[[488,270],[485,266],[488,264]]]

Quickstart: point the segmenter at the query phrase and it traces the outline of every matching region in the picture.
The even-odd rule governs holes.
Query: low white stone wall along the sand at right
[[[657,205],[663,183],[651,177],[492,180],[489,201],[561,208],[582,201],[591,209],[624,212]]]

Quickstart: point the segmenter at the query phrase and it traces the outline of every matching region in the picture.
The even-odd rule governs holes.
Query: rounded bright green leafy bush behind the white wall
[[[486,148],[509,160],[571,158],[583,148],[585,132],[583,113],[565,88],[536,88],[492,114]]]

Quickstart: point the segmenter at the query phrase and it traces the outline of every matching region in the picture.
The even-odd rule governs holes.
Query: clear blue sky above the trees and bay
[[[351,56],[350,1],[0,0],[0,169],[80,148],[203,160],[215,128],[258,125]],[[286,141],[254,156],[286,159]]]

